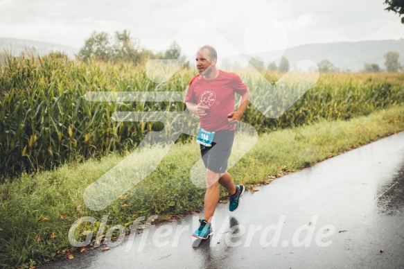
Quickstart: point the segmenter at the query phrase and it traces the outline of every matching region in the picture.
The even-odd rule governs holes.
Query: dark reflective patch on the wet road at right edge
[[[380,187],[376,203],[378,211],[384,214],[404,213],[404,160],[393,172],[393,180]]]

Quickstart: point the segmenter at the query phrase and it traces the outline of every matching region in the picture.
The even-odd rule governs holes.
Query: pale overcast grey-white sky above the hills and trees
[[[183,31],[179,38],[188,36],[192,39],[191,36],[197,33],[191,35],[190,31],[198,32],[198,28],[190,23],[202,19],[242,52],[245,47],[251,49],[254,45],[254,42],[244,42],[245,37],[254,35],[252,28],[260,25],[260,21],[254,23],[254,20],[266,17],[279,21],[287,33],[287,36],[282,35],[274,28],[275,32],[259,35],[263,39],[255,43],[277,40],[277,43],[270,41],[274,44],[272,49],[283,45],[290,48],[310,43],[403,38],[404,25],[398,15],[384,10],[383,2],[0,0],[0,37],[79,49],[93,31],[114,33],[128,29],[132,37],[140,40],[170,40],[188,26],[186,31],[190,34]],[[262,33],[262,29],[260,31]],[[186,44],[184,46],[186,50],[190,49]]]

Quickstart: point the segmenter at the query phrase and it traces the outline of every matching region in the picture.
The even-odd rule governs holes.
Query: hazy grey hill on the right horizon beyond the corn
[[[398,61],[404,65],[404,38],[401,40],[369,40],[360,42],[337,42],[307,44],[287,49],[283,55],[289,63],[299,60],[312,60],[315,63],[329,60],[341,70],[360,71],[363,63],[375,63],[385,69],[384,55],[387,51],[397,51]]]

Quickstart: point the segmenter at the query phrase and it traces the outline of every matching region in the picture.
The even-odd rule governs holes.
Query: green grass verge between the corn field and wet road
[[[256,146],[229,172],[236,183],[243,182],[251,188],[401,130],[404,105],[350,121],[322,120],[261,134]],[[137,157],[147,159],[148,154],[148,150],[143,150]],[[1,184],[0,266],[27,265],[30,259],[42,264],[76,250],[67,235],[71,224],[82,216],[93,216],[99,221],[103,214],[108,214],[107,228],[117,224],[128,227],[138,216],[157,214],[160,220],[202,208],[204,189],[189,179],[191,167],[200,159],[197,144],[191,143],[173,145],[146,180],[106,209],[91,211],[83,202],[83,191],[123,158],[111,153],[80,164],[64,164],[55,171],[24,174]],[[227,195],[224,189],[221,195]],[[78,239],[83,238],[80,232],[96,230],[97,225],[80,225]],[[55,237],[51,238],[53,233]]]

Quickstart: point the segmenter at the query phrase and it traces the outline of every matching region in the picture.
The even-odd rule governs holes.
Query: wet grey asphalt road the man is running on
[[[404,268],[404,132],[256,189],[207,241],[186,215],[42,268]]]

